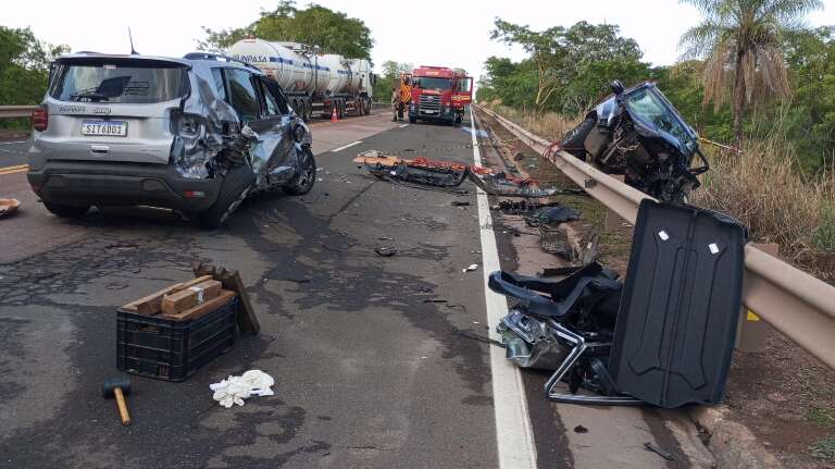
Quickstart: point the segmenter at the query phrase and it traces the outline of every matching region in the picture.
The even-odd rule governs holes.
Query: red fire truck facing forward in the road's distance
[[[412,71],[409,122],[460,124],[473,100],[473,77],[461,69],[421,65]]]

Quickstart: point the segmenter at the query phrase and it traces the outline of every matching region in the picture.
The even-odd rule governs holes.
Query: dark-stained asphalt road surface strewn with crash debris
[[[471,134],[386,115],[313,134],[321,170],[309,195],[254,197],[214,232],[151,209],[60,220],[25,173],[0,170],[0,197],[24,201],[0,220],[0,467],[499,467],[497,439],[518,435],[497,432],[506,403],[494,390],[506,378],[494,380],[495,346],[472,338],[488,335],[475,194],[392,185],[351,162],[376,149],[470,163]],[[25,162],[20,148],[0,145],[14,150],[0,168]],[[498,243],[514,268],[510,239]],[[241,271],[262,333],[239,336],[186,382],[135,377],[134,424],[123,428],[101,396],[102,381],[120,375],[115,309],[190,277],[198,260]],[[479,269],[462,272],[472,263]],[[275,378],[275,396],[219,407],[209,384],[249,369]],[[554,406],[541,374],[521,377],[531,415],[519,421],[536,435],[525,467],[689,466],[618,444],[632,433],[677,448],[656,414]],[[576,434],[576,421],[599,422],[599,433]]]

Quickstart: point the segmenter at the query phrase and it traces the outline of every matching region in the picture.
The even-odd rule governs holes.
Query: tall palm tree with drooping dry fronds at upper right
[[[680,0],[695,7],[702,22],[684,33],[684,57],[705,59],[705,102],[719,108],[733,99],[734,137],[743,140],[743,118],[755,96],[789,95],[784,38],[802,29],[820,0]]]

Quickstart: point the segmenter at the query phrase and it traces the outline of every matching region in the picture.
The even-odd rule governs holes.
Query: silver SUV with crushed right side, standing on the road
[[[278,84],[223,55],[61,57],[33,127],[29,184],[60,217],[152,206],[216,227],[250,194],[316,180],[310,129]]]

